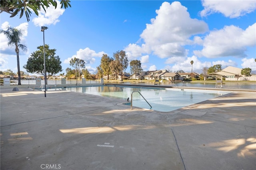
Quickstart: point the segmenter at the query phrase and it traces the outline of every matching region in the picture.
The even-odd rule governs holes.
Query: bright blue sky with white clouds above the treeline
[[[112,57],[124,50],[129,62],[138,59],[142,69],[170,71],[202,70],[221,64],[256,70],[255,0],[181,0],[181,1],[85,1],[72,0],[71,8],[48,8],[30,21],[17,15],[0,14],[1,29],[6,26],[24,30],[20,68],[31,53],[45,44],[56,49],[63,71],[71,58],[86,61],[96,73],[103,54]],[[0,70],[17,72],[14,47],[0,34]],[[130,72],[130,66],[126,69]],[[58,73],[59,74],[59,73]],[[33,75],[33,74],[30,74]]]

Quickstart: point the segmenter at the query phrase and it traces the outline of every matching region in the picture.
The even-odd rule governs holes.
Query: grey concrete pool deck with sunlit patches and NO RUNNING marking
[[[68,91],[1,88],[1,170],[255,170],[256,92],[161,113]]]

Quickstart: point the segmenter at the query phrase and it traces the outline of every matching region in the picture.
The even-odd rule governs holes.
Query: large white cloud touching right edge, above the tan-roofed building
[[[212,31],[204,39],[203,49],[194,51],[195,55],[208,58],[246,57],[246,46],[256,45],[256,23],[242,30],[236,26],[225,26],[221,30]]]

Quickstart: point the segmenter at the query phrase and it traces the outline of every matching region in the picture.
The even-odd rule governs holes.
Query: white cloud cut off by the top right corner
[[[238,18],[256,9],[255,0],[202,0],[202,5],[201,16],[222,13],[229,18]]]

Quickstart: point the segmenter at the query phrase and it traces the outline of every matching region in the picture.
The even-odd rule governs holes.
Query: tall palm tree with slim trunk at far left
[[[17,67],[18,67],[18,85],[21,85],[20,83],[20,57],[19,57],[19,48],[22,49],[23,51],[27,51],[26,45],[20,44],[20,38],[23,35],[23,30],[17,29],[17,28],[12,28],[12,27],[7,27],[7,30],[0,30],[0,33],[4,33],[6,37],[8,38],[8,46],[15,45],[15,52],[17,55]]]

